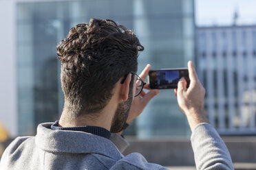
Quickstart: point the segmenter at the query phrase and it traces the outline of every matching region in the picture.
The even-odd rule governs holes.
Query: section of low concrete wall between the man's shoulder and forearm
[[[128,138],[131,144],[124,155],[138,152],[145,156],[148,162],[162,166],[192,166],[195,165],[193,150],[188,138],[153,139],[139,141]]]

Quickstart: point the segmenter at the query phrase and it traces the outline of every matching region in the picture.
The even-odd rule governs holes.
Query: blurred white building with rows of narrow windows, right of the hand
[[[256,25],[198,27],[205,110],[220,134],[256,134]]]

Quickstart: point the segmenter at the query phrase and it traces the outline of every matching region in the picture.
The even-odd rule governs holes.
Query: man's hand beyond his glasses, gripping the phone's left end
[[[142,73],[140,73],[140,77],[144,82],[146,80],[147,75],[149,74],[150,68],[150,64],[147,64]],[[136,84],[136,86],[139,86],[139,84]],[[160,90],[151,90],[149,88],[149,84],[146,84],[144,88],[149,90],[149,92],[145,93],[145,90],[142,90],[140,95],[134,97],[134,101],[132,102],[131,109],[129,111],[129,116],[127,118],[127,123],[131,123],[132,120],[138,117],[138,115],[140,115],[140,113],[147,106],[149,101],[160,93]]]

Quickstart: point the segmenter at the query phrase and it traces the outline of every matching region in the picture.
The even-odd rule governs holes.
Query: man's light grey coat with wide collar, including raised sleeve
[[[123,156],[119,150],[127,142],[120,136],[110,141],[85,132],[52,130],[51,125],[40,124],[36,136],[16,138],[4,151],[0,169],[166,169],[138,153]],[[208,123],[195,128],[191,143],[197,169],[233,169],[226,145]]]

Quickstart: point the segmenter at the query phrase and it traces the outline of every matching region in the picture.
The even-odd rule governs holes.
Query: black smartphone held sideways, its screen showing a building
[[[186,88],[189,88],[189,71],[187,68],[160,69],[149,71],[148,83],[152,89],[178,88],[180,78],[186,80]]]

